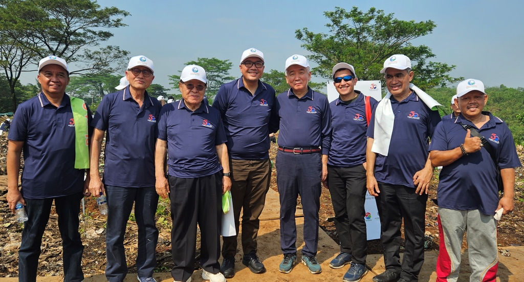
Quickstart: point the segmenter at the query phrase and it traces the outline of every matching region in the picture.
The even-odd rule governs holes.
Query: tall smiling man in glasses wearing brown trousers
[[[278,130],[275,90],[261,82],[264,54],[255,48],[242,53],[242,77],[221,86],[213,107],[222,115],[230,154],[231,195],[238,234],[242,216],[242,263],[253,273],[266,271],[257,257],[258,216],[264,209],[271,181],[269,133]],[[226,278],[235,275],[237,236],[222,237],[222,266]]]

